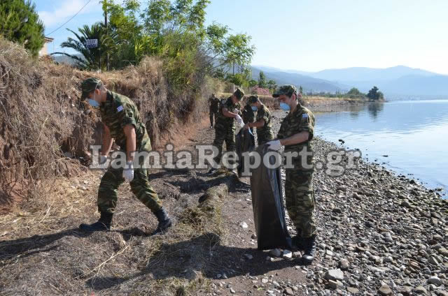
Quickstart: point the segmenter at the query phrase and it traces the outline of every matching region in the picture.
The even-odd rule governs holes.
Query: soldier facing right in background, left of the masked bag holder
[[[215,140],[213,145],[218,148],[218,155],[215,156],[214,161],[219,165],[223,153],[223,142],[228,151],[235,151],[235,119],[238,124],[243,124],[243,119],[239,116],[239,101],[244,96],[241,89],[237,89],[232,96],[230,96],[223,104],[220,105],[218,111],[218,120],[215,124]],[[216,168],[211,168],[209,173],[212,173]]]

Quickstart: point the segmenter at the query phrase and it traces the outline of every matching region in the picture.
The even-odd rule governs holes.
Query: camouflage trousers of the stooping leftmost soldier
[[[118,186],[123,184],[123,168],[109,168],[101,179],[98,189],[98,210],[113,214],[117,205]],[[144,168],[134,169],[134,179],[130,182],[131,191],[146,205],[151,212],[157,212],[162,208],[162,201],[149,184],[148,170]]]

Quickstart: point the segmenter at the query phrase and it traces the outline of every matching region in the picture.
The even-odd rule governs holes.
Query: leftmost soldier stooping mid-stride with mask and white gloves
[[[126,152],[126,167],[110,167],[101,179],[98,190],[99,220],[92,224],[81,224],[85,231],[110,230],[113,213],[117,204],[117,189],[123,182],[130,182],[132,192],[155,214],[159,223],[151,235],[165,232],[172,221],[162,207],[157,193],[149,184],[148,170],[141,168],[144,159],[139,157],[139,166],[134,168],[135,151],[151,151],[146,127],[137,106],[126,96],[116,94],[104,87],[101,80],[91,77],[81,83],[81,101],[88,99],[93,107],[99,107],[104,125],[103,145],[100,163],[106,161],[113,139]]]

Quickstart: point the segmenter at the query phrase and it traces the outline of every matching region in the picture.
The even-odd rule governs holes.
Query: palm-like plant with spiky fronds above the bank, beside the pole
[[[78,29],[80,34],[71,29],[67,30],[71,31],[76,36],[76,39],[69,37],[61,44],[61,47],[76,50],[76,52],[83,55],[83,58],[75,54],[67,54],[66,52],[55,52],[53,54],[64,54],[67,57],[71,57],[71,59],[77,61],[80,68],[104,70],[106,68],[107,54],[111,53],[116,47],[115,34],[107,34],[104,24],[101,22],[92,24],[91,27],[85,24]],[[87,39],[97,39],[98,47],[88,48],[86,45]]]

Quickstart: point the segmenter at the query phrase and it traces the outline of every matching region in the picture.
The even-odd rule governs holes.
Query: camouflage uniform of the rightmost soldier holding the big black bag
[[[279,90],[280,94],[281,89]],[[276,91],[277,95],[279,94]],[[293,113],[289,113],[283,119],[277,138],[284,139],[302,131],[309,132],[307,142],[285,146],[285,153],[295,151],[299,153],[304,147],[312,152],[311,139],[314,136],[314,114],[302,105],[297,105]],[[314,163],[314,157],[307,158],[307,165]],[[314,207],[316,200],[313,190],[314,167],[311,169],[302,167],[302,157],[293,158],[293,169],[286,169],[285,196],[286,209],[290,219],[297,228],[300,237],[316,235],[316,223],[314,221]]]

